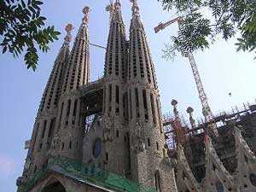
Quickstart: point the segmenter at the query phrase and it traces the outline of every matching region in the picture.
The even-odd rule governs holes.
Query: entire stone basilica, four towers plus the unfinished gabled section
[[[20,192],[256,191],[256,106],[209,125],[166,121],[137,0],[129,38],[119,0],[108,6],[104,76],[90,82],[90,8],[55,59],[27,143]],[[175,136],[170,147],[170,137]]]

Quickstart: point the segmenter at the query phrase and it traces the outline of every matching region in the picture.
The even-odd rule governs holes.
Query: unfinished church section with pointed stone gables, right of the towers
[[[175,167],[179,191],[256,191],[256,105],[244,105],[220,113],[212,122],[195,125],[193,109],[189,123],[177,112],[166,115],[166,147]],[[208,126],[216,125],[218,137]]]

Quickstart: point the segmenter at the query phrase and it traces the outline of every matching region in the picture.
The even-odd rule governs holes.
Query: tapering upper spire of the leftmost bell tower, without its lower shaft
[[[64,38],[64,43],[62,44],[59,54],[55,59],[55,65],[52,69],[48,83],[44,90],[44,95],[39,107],[39,113],[46,109],[49,110],[50,108],[55,108],[59,101],[61,85],[63,82],[63,74],[65,73],[65,68],[67,66],[67,60],[69,57],[69,44],[72,39],[72,30],[72,24],[67,24],[65,27],[67,35]]]

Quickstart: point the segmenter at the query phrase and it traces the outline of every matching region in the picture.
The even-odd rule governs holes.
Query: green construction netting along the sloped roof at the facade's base
[[[61,167],[61,170],[65,173],[73,175],[73,177],[84,181],[84,183],[94,183],[102,188],[112,189],[113,191],[156,192],[154,188],[148,188],[143,186],[143,184],[131,182],[129,179],[112,172],[107,172],[96,166],[88,166],[63,157],[50,158],[48,168],[38,172],[31,181],[27,182],[23,191],[31,189],[40,177],[44,177],[49,170],[54,170],[55,166]]]

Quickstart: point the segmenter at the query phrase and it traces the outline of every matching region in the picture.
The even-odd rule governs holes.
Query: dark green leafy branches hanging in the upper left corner
[[[33,71],[38,65],[38,49],[49,50],[49,42],[57,40],[60,32],[54,26],[45,26],[46,18],[41,15],[38,0],[1,0],[0,1],[0,46],[3,54],[9,51],[17,57],[24,52],[27,68]],[[43,28],[44,26],[44,28]]]

